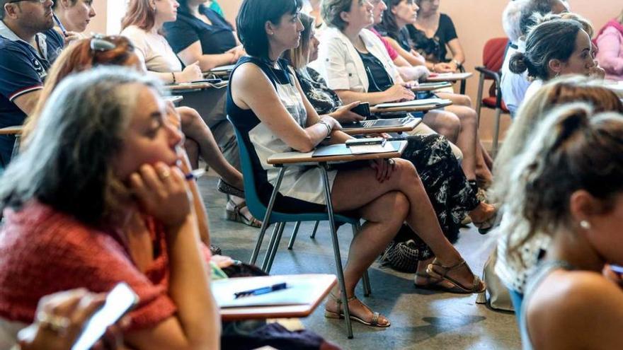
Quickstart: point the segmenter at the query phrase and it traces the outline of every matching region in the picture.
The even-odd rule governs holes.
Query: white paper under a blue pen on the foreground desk
[[[280,291],[261,294],[259,296],[245,296],[237,298],[234,293],[248,291],[254,288],[272,286],[285,282],[287,288]],[[248,306],[275,306],[275,305],[306,305],[316,301],[326,288],[314,279],[289,279],[287,276],[275,278],[241,277],[234,279],[219,279],[213,281],[212,294],[215,296],[219,308],[244,308]]]

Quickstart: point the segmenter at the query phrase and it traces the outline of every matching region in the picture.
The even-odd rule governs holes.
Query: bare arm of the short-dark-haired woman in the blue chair
[[[242,109],[253,110],[268,129],[295,150],[309,152],[327,136],[324,124],[311,124],[304,129],[300,127],[281,103],[273,84],[255,64],[239,66],[229,83],[234,103]],[[316,122],[314,115],[311,116],[311,121]]]

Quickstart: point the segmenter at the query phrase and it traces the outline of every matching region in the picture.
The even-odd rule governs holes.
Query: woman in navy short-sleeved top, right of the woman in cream
[[[199,62],[202,71],[234,64],[244,55],[234,27],[205,6],[205,0],[179,0],[176,21],[164,23],[166,40],[183,64]]]

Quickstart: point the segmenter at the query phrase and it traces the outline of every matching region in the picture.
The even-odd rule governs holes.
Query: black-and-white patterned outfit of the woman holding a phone
[[[326,86],[317,71],[307,67],[304,71],[296,71],[296,74],[307,99],[320,115],[333,112],[342,105],[338,95]],[[452,154],[450,144],[444,136],[438,134],[397,139],[408,141],[401,158],[415,165],[444,235],[451,243],[455,243],[465,213],[475,209],[480,202],[457,158]],[[416,241],[421,259],[433,256],[425,243]]]

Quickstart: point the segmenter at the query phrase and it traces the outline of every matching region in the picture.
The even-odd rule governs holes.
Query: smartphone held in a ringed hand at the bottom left
[[[106,328],[114,325],[128,310],[139,301],[138,296],[126,283],[121,282],[113,288],[102,307],[86,322],[80,337],[72,346],[72,350],[88,350],[93,347],[106,332]]]

